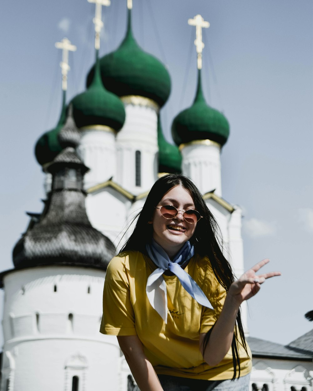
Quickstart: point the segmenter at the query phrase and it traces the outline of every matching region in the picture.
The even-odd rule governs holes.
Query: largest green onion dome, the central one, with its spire
[[[126,37],[115,52],[100,59],[101,77],[105,88],[116,95],[139,95],[164,105],[171,91],[171,79],[165,66],[144,52],[133,38],[131,11],[128,10]],[[90,85],[94,67],[87,77]]]

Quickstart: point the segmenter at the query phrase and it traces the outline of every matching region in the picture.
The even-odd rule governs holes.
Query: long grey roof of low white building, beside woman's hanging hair
[[[312,361],[313,359],[313,350],[310,352],[290,345],[284,346],[254,337],[247,337],[246,340],[253,357],[302,361]]]

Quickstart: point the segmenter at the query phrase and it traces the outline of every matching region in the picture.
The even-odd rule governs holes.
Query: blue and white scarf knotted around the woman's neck
[[[162,274],[165,270],[174,273],[183,288],[198,301],[199,304],[208,308],[213,308],[208,298],[203,293],[199,285],[189,276],[180,265],[188,261],[194,255],[194,247],[191,246],[189,240],[183,245],[182,249],[175,255],[173,261],[164,249],[152,239],[151,244],[146,245],[149,258],[158,266],[148,277],[146,285],[146,293],[150,304],[167,323],[167,292],[166,284]]]

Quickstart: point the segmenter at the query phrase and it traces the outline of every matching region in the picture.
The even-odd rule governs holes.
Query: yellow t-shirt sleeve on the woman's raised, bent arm
[[[214,274],[211,279],[210,291],[208,292],[207,297],[212,304],[213,309],[203,307],[200,333],[207,333],[212,326],[214,326],[215,322],[218,320],[219,314],[221,313],[226,297],[225,289],[220,285]]]

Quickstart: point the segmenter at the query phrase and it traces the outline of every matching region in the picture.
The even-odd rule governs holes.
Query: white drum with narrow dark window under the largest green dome
[[[125,105],[126,120],[116,138],[116,180],[123,188],[137,195],[149,190],[157,179],[158,106],[144,97],[121,99]],[[137,183],[136,151],[140,156],[137,157]]]

